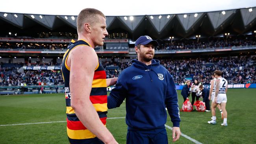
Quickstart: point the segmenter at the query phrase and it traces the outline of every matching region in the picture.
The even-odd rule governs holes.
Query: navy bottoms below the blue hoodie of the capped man
[[[168,144],[166,129],[150,131],[128,130],[126,144]]]

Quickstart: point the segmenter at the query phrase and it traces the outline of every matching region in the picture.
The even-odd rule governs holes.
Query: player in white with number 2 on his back
[[[226,92],[228,90],[228,82],[226,79],[221,77],[221,71],[220,70],[215,70],[214,75],[215,78],[215,96],[213,100],[213,109],[211,109],[211,114],[212,114],[212,120],[208,121],[209,124],[216,124],[216,116],[215,116],[215,108],[217,107],[218,104],[221,105],[221,109],[223,110],[223,123],[221,126],[228,126],[227,124],[227,111],[226,111],[226,102],[227,102],[227,97],[226,97]]]

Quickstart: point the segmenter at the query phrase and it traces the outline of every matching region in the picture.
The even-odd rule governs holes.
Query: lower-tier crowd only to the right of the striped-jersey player
[[[241,63],[243,61],[243,63]],[[174,82],[177,85],[183,85],[186,79],[198,79],[200,83],[210,84],[211,72],[221,70],[223,77],[232,84],[256,83],[256,56],[241,57],[218,57],[202,59],[182,59],[182,60],[160,60],[160,64],[165,66],[172,74]],[[120,70],[108,70],[107,77],[118,77],[121,70],[132,65],[130,61],[103,62],[104,66],[119,66]]]

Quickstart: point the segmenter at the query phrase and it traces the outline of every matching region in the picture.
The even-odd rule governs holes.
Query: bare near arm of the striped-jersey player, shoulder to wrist
[[[68,64],[70,64],[71,107],[82,124],[96,137],[104,143],[115,142],[114,137],[100,121],[89,98],[97,62],[98,57],[89,46],[79,46],[70,52]]]

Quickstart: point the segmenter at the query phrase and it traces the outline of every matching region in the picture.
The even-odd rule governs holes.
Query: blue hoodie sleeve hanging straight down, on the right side
[[[176,91],[176,86],[173,81],[173,77],[169,72],[167,72],[167,91],[165,97],[165,104],[168,113],[171,117],[174,127],[180,127],[180,109],[178,105],[178,94]]]

